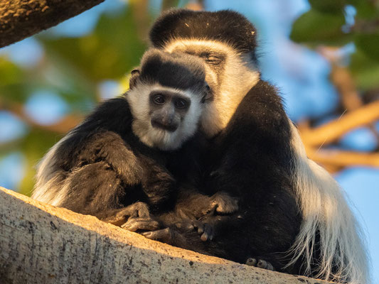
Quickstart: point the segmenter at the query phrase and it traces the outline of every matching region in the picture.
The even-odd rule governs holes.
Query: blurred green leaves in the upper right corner
[[[310,47],[353,43],[348,66],[361,90],[379,85],[379,2],[310,0],[311,9],[295,21],[291,38]],[[351,15],[351,13],[355,13]],[[354,18],[353,18],[354,16]]]

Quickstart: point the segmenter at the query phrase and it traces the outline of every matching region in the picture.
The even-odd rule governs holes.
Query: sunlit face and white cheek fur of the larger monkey
[[[205,81],[213,94],[213,102],[205,106],[201,118],[201,128],[208,136],[228,125],[238,104],[260,78],[251,54],[241,53],[227,43],[178,39],[167,43],[164,50],[195,55],[205,63]]]

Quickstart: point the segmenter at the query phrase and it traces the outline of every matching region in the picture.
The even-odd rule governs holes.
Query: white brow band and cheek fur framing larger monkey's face
[[[233,47],[215,40],[175,39],[165,46],[165,51],[185,51],[187,48],[198,48],[199,50],[210,49],[223,53],[225,58],[225,73],[223,82],[219,89],[222,93],[215,94],[215,101],[208,104],[201,118],[202,129],[208,136],[214,136],[228,125],[238,105],[245,94],[260,80],[260,73],[247,55],[236,53]],[[205,80],[215,81],[216,74],[205,65]]]

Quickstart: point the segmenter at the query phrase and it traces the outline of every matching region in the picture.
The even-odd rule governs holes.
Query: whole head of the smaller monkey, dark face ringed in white
[[[186,53],[148,50],[132,71],[127,92],[132,130],[140,141],[175,150],[198,130],[213,92],[205,82],[203,60]]]

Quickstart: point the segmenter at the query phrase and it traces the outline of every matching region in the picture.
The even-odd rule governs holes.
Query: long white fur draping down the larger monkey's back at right
[[[294,182],[304,218],[292,250],[296,256],[289,265],[304,256],[306,273],[311,273],[312,248],[317,231],[320,233],[321,260],[316,278],[336,282],[368,283],[368,261],[361,229],[348,207],[344,192],[329,173],[306,157],[299,132],[292,127],[294,149]],[[332,266],[340,269],[332,273]],[[312,271],[314,272],[314,271]]]

